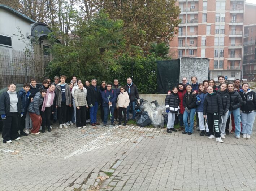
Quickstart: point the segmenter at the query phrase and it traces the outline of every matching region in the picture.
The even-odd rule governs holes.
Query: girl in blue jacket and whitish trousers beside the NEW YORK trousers
[[[207,95],[207,93],[206,93],[204,84],[200,83],[198,85],[198,95],[196,96],[196,105],[197,105],[196,112],[197,112],[198,118],[199,118],[199,123],[197,123],[197,124],[199,125],[199,128],[201,130],[201,133],[200,133],[201,136],[205,135],[203,111],[204,111],[204,100],[205,100],[206,95]],[[209,134],[209,129],[208,129],[207,123],[206,123],[206,133],[207,133],[207,135]]]

